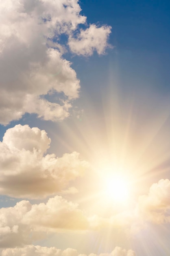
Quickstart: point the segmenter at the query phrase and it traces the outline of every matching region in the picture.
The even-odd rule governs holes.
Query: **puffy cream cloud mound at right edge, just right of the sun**
[[[170,222],[170,180],[154,183],[148,195],[139,197],[137,211],[144,220],[157,224]]]

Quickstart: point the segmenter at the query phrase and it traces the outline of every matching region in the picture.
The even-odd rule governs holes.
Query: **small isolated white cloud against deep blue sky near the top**
[[[99,55],[105,53],[109,46],[107,43],[111,27],[90,25],[89,28],[81,30],[77,38],[70,36],[68,45],[70,50],[77,55],[91,56],[94,51]]]

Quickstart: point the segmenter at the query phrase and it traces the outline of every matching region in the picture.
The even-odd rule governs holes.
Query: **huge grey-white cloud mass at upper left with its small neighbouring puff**
[[[67,42],[60,36],[70,38],[72,52],[91,55],[95,49],[99,54],[105,51],[110,33],[110,27],[91,25],[78,36],[81,49],[73,36],[86,22],[80,12],[77,0],[7,0],[0,5],[1,124],[26,112],[52,121],[68,117],[80,83],[62,57]]]

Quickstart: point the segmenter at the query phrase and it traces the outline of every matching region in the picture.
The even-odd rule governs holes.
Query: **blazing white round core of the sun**
[[[129,198],[128,182],[120,176],[109,177],[106,180],[105,195],[108,199],[125,202]]]

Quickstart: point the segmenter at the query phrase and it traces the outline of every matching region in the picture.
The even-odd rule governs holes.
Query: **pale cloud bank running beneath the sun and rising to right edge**
[[[88,218],[90,229],[122,228],[126,234],[136,234],[146,228],[147,222],[170,223],[170,180],[161,179],[150,186],[148,195],[139,196],[129,210],[110,217],[94,215]]]

